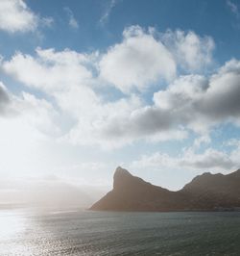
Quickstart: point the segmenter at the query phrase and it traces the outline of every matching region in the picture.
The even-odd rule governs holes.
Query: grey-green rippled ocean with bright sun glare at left
[[[240,255],[240,213],[1,210],[0,255]]]

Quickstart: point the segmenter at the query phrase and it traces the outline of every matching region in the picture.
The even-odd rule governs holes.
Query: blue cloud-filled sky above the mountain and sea
[[[1,0],[0,202],[238,169],[239,42],[236,0]]]

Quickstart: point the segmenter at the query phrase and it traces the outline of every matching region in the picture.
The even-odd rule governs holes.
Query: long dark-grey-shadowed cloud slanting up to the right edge
[[[153,106],[108,120],[104,133],[115,138],[139,138],[180,126],[194,127],[198,132],[221,122],[239,121],[240,62],[228,62],[209,79],[194,75],[180,77],[174,85],[157,92],[154,100]]]

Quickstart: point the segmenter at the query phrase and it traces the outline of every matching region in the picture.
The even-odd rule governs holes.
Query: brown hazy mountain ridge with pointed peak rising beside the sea
[[[240,207],[240,169],[228,175],[204,173],[178,192],[152,185],[122,167],[113,190],[92,205],[97,211],[213,211]]]

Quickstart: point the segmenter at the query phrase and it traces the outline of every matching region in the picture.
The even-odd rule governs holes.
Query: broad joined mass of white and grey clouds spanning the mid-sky
[[[126,29],[123,41],[107,53],[38,48],[36,56],[16,53],[2,62],[2,69],[54,101],[61,123],[67,123],[60,141],[106,148],[139,140],[184,140],[194,132],[202,137],[197,146],[210,140],[209,131],[216,125],[240,124],[240,62],[230,60],[206,76],[200,69],[211,62],[209,57],[203,63],[212,46],[203,48],[212,45],[211,39],[192,32],[171,32],[171,37],[169,33],[165,34],[168,39],[162,39],[153,29],[145,32],[134,26]],[[190,56],[198,53],[196,62],[201,68],[196,73],[190,71],[195,69],[192,57],[183,51],[182,64],[191,74],[178,75],[183,65],[179,67],[176,49],[180,46],[176,45],[185,45],[188,37],[198,43],[184,47],[190,49]],[[169,38],[176,40],[174,46],[165,45]],[[154,92],[152,103],[146,103],[144,90],[161,79],[168,81],[168,86]],[[102,89],[112,86],[125,94],[106,99]]]

